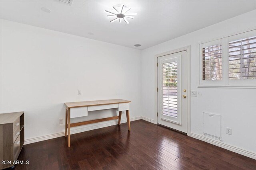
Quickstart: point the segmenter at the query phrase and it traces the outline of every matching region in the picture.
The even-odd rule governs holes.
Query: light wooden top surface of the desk
[[[96,100],[96,101],[87,101],[87,102],[70,102],[65,103],[68,108],[74,107],[88,107],[88,106],[100,106],[108,104],[120,104],[120,103],[130,103],[131,101],[122,100],[122,99],[112,99],[112,100]]]

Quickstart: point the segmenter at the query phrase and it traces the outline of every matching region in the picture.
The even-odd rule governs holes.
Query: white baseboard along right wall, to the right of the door
[[[232,152],[236,152],[238,154],[242,154],[244,156],[247,156],[247,157],[250,157],[252,159],[256,159],[256,153],[253,153],[253,152],[250,152],[248,150],[244,150],[244,149],[241,149],[241,148],[238,148],[238,147],[235,147],[235,146],[232,146],[232,145],[228,145],[224,142],[221,142],[221,141],[216,141],[214,139],[210,139],[208,137],[205,137],[203,135],[200,135],[200,134],[196,134],[196,133],[191,133],[191,137],[193,138],[196,138],[196,139],[199,139],[201,141],[204,141],[204,142],[207,142],[207,143],[210,143],[212,145],[216,145],[218,147],[221,147],[221,148],[224,148],[224,149],[227,149],[227,150],[230,150]]]

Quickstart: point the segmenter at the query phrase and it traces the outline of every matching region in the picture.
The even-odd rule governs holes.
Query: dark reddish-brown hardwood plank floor
[[[15,170],[256,170],[256,160],[144,120],[24,145]]]

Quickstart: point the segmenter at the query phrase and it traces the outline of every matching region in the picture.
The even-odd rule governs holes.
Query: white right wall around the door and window
[[[198,91],[197,97],[191,97],[191,133],[203,134],[204,111],[220,114],[223,143],[256,155],[256,89],[198,88],[200,65],[197,46],[204,40],[255,28],[255,21],[256,10],[143,50],[142,117],[154,121],[156,114],[154,55],[191,45],[191,90]],[[226,134],[226,127],[232,128],[232,135]]]

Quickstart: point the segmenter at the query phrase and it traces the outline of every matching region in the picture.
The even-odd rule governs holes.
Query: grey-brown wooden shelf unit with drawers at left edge
[[[0,114],[0,170],[14,166],[24,145],[24,111]],[[10,163],[10,162],[8,162]]]

